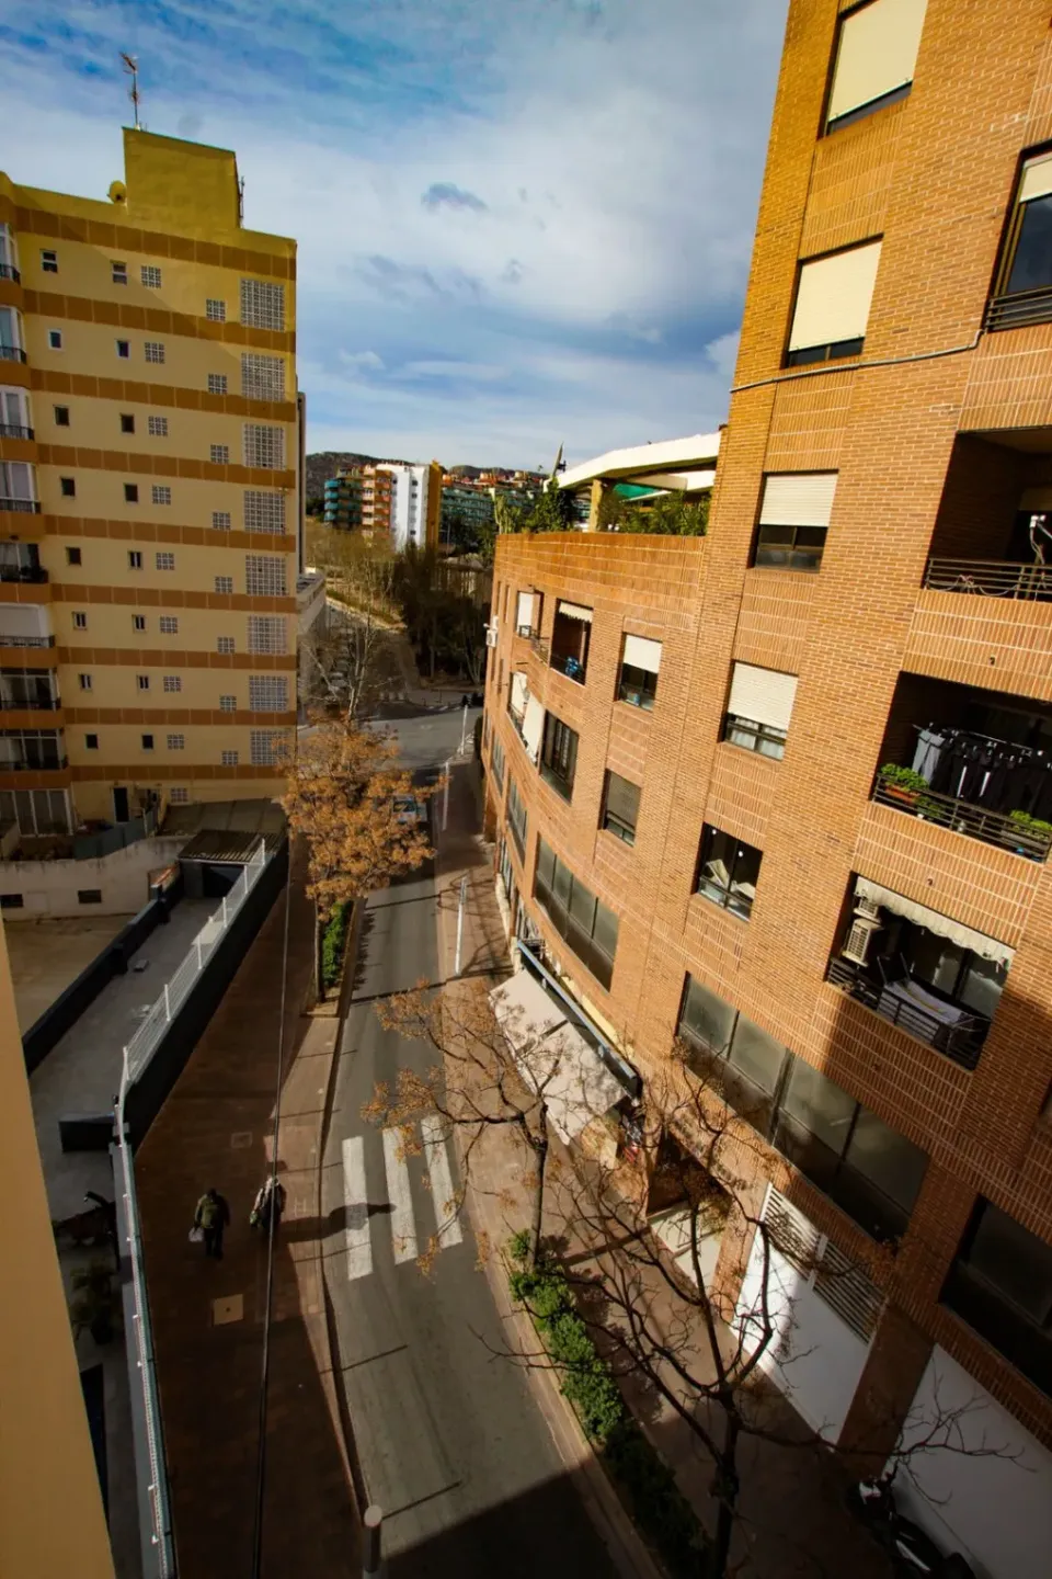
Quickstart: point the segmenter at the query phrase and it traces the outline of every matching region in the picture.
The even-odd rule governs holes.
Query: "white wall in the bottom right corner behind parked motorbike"
[[[932,1350],[902,1445],[964,1410],[951,1442],[896,1478],[896,1500],[946,1552],[962,1552],[976,1579],[1047,1579],[1052,1573],[1052,1453],[943,1348]],[[986,1457],[968,1456],[998,1450]]]

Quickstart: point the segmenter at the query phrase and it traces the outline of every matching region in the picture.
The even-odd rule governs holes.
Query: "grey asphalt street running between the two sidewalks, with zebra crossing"
[[[397,729],[405,764],[424,772],[456,750],[461,712]],[[391,1579],[612,1579],[527,1377],[498,1358],[502,1323],[470,1225],[443,1211],[453,1142],[424,1131],[421,1153],[407,1154],[394,1132],[361,1116],[377,1080],[434,1063],[421,1044],[383,1031],[375,1003],[438,979],[437,905],[431,870],[371,900],[336,1074],[325,1266],[358,1461],[385,1511]],[[423,1273],[416,1255],[435,1235]]]

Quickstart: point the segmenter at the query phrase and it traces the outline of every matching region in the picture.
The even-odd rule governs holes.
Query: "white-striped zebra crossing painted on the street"
[[[374,1131],[375,1134],[375,1131]],[[402,1129],[382,1131],[383,1176],[386,1202],[369,1200],[366,1180],[366,1145],[371,1137],[349,1135],[342,1143],[344,1206],[347,1241],[347,1281],[367,1277],[372,1271],[372,1235],[390,1233],[396,1266],[415,1262],[420,1243],[434,1240],[440,1251],[461,1244],[464,1233],[453,1206],[453,1170],[450,1167],[448,1142],[442,1132],[442,1120],[426,1115],[420,1121],[420,1138],[427,1173],[427,1202],[434,1214],[434,1228],[416,1224],[416,1210],[410,1187],[407,1143]]]

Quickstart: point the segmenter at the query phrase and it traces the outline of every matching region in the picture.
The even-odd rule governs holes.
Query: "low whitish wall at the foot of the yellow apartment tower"
[[[5,925],[39,916],[132,916],[150,898],[150,873],[170,865],[188,837],[140,838],[101,861],[3,861],[0,894],[24,898],[22,910],[5,910]],[[103,903],[82,905],[77,889],[101,889]]]

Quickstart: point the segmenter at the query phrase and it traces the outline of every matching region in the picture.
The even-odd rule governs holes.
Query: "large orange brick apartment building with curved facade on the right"
[[[1031,1472],[920,1467],[992,1579],[1052,1538],[1046,521],[1049,8],[792,0],[708,535],[498,542],[487,820],[644,1090],[678,1033],[757,1210],[858,1268],[784,1262],[800,1412],[972,1399]],[[732,1230],[714,1287],[755,1293]]]

